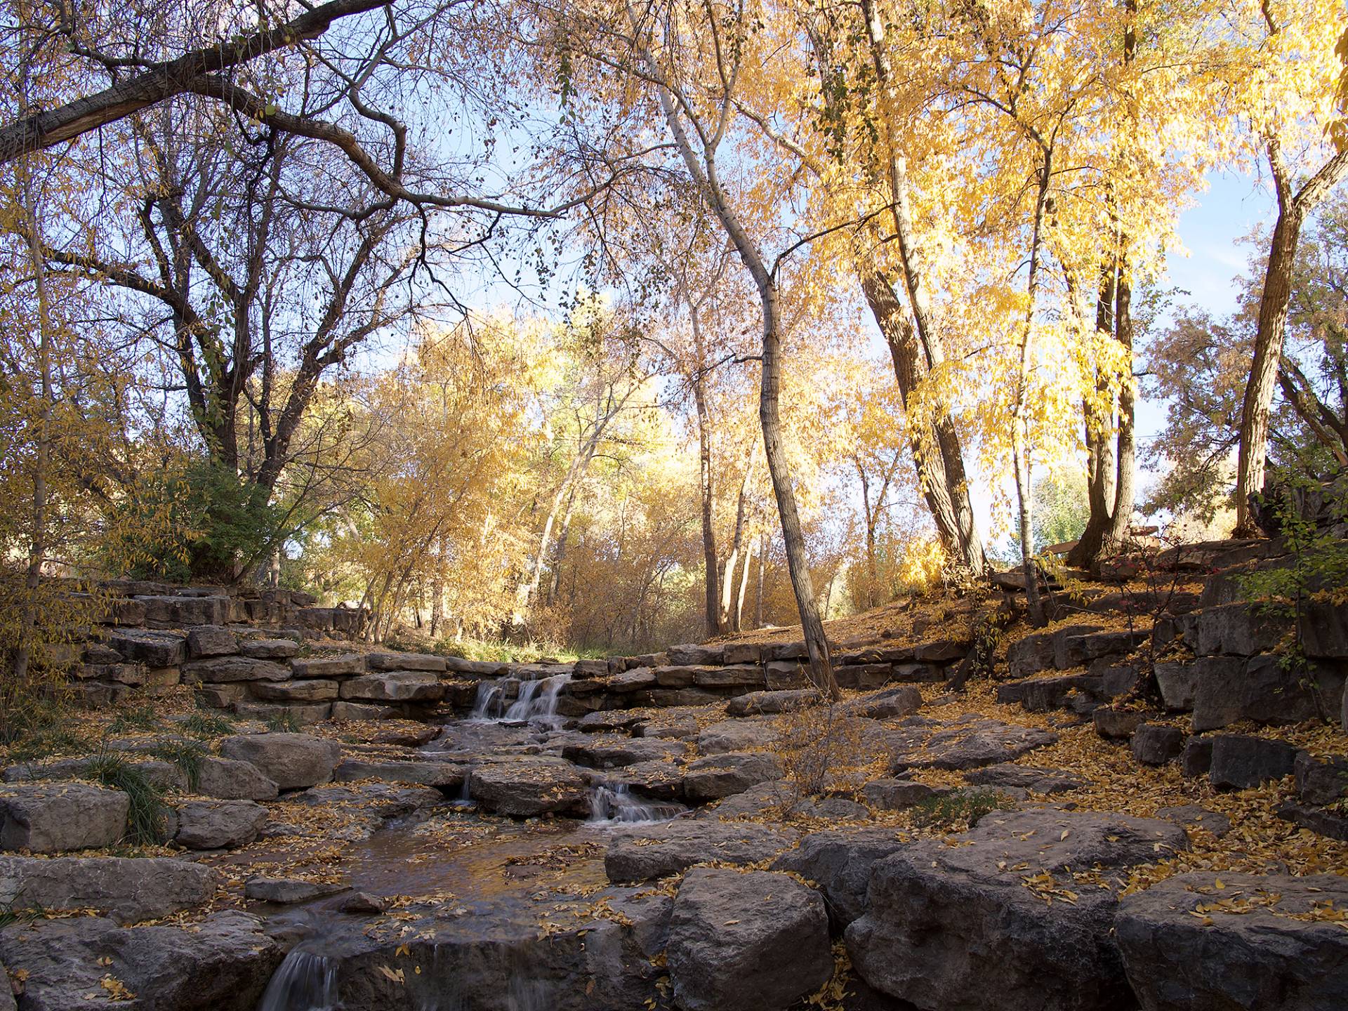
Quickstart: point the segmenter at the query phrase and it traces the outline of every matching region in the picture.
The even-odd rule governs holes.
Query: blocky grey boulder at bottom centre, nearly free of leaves
[[[674,898],[666,956],[685,1011],[782,1011],[833,975],[824,899],[768,871],[692,871]]]

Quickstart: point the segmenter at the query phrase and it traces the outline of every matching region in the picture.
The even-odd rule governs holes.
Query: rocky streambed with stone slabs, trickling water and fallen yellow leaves
[[[1337,731],[1189,739],[1070,689],[887,671],[832,708],[763,687],[577,712],[543,666],[479,679],[458,716],[212,737],[167,697],[97,755],[4,770],[9,991],[20,1011],[1348,1006],[1348,848],[1278,814],[1336,817]],[[168,790],[170,845],[128,844],[109,754]]]

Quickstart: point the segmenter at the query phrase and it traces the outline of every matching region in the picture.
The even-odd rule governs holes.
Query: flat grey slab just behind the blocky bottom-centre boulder
[[[617,829],[604,852],[604,874],[615,884],[648,882],[716,860],[756,864],[795,844],[797,833],[748,821],[690,821]]]

